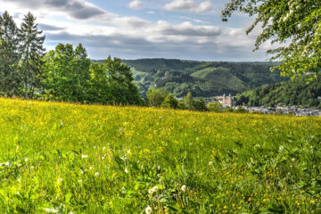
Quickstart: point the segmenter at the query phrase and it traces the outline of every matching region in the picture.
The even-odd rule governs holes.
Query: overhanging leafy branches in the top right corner
[[[321,69],[321,2],[316,0],[230,0],[222,11],[227,21],[233,12],[256,16],[249,34],[256,26],[262,27],[255,50],[265,42],[277,45],[268,50],[271,61],[281,63],[274,70],[285,76],[303,73],[320,75]]]

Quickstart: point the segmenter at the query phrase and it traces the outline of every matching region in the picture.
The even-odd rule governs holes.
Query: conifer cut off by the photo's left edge
[[[18,72],[18,29],[9,12],[0,16],[0,93],[18,95],[21,78]]]

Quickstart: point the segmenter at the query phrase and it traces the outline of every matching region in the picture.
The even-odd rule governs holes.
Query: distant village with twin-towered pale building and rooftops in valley
[[[241,106],[237,106],[236,104],[236,97],[232,95],[221,95],[215,96],[214,100],[218,103],[222,104],[222,108],[233,108],[236,110]],[[212,101],[213,102],[213,101]],[[242,108],[249,112],[261,112],[265,114],[292,114],[296,116],[321,116],[321,110],[318,109],[307,109],[307,108],[300,108],[299,106],[286,106],[283,103],[278,104],[276,107],[249,107],[249,106],[242,106]]]

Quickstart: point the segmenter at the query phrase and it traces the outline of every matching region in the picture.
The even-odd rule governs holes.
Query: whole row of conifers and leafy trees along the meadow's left
[[[108,57],[92,62],[79,44],[45,53],[45,36],[29,12],[18,28],[0,15],[0,95],[79,103],[143,104],[130,68]]]

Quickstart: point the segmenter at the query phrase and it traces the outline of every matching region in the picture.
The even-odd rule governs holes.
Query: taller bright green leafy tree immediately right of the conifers
[[[89,97],[90,60],[79,44],[59,44],[45,55],[45,95],[60,101],[86,102]]]

